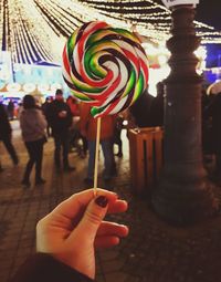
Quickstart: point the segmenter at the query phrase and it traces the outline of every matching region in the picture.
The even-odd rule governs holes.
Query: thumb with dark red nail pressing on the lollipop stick
[[[105,196],[98,196],[87,206],[82,220],[75,229],[75,236],[87,237],[93,240],[97,229],[107,212],[108,199]]]

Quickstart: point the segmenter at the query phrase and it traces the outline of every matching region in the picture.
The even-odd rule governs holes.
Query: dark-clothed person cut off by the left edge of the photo
[[[18,165],[19,158],[11,143],[11,139],[12,139],[11,125],[9,123],[7,111],[3,104],[0,103],[0,140],[3,143],[4,147],[7,148],[13,164]]]

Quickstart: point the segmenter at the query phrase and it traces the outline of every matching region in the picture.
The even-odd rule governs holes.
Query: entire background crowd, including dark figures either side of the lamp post
[[[214,155],[215,177],[221,181],[221,150],[220,150],[220,113],[221,94],[207,95],[202,93],[202,149],[203,155]],[[104,155],[103,178],[109,181],[116,176],[115,156],[123,157],[122,129],[127,119],[127,128],[164,126],[164,83],[157,85],[157,96],[154,97],[145,91],[138,101],[127,112],[102,118],[101,147]],[[9,106],[6,108],[0,103],[0,140],[6,146],[12,163],[19,164],[19,157],[12,143],[11,116]],[[54,166],[57,173],[74,171],[70,165],[70,152],[77,150],[82,158],[88,155],[85,184],[93,185],[94,161],[96,146],[97,119],[91,115],[91,106],[80,103],[73,96],[66,101],[62,90],[56,90],[55,97],[46,97],[39,105],[33,96],[25,95],[22,107],[19,111],[22,138],[29,155],[29,159],[21,180],[24,187],[29,187],[30,175],[35,165],[35,185],[43,185],[42,178],[43,147],[49,137],[54,139]],[[114,154],[114,145],[118,152]],[[0,161],[0,171],[3,170]]]

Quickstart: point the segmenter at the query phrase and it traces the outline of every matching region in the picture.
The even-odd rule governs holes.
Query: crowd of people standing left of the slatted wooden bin
[[[93,185],[96,118],[91,115],[88,104],[78,103],[73,96],[64,100],[62,90],[56,90],[53,100],[48,97],[42,105],[36,103],[32,95],[25,95],[19,111],[19,122],[22,139],[28,152],[28,163],[21,184],[30,187],[30,176],[35,166],[35,186],[43,185],[42,178],[43,148],[49,137],[54,139],[54,166],[57,173],[74,171],[70,165],[70,152],[75,147],[81,157],[88,154],[88,169],[85,174],[85,184]],[[4,144],[14,165],[19,157],[12,145],[12,128],[7,108],[0,104],[0,140]],[[114,134],[117,129],[117,136]],[[117,115],[102,118],[101,145],[104,155],[103,178],[109,181],[116,175],[114,158],[114,142],[119,146],[118,157],[123,157],[119,122]],[[0,166],[1,171],[3,170]]]

